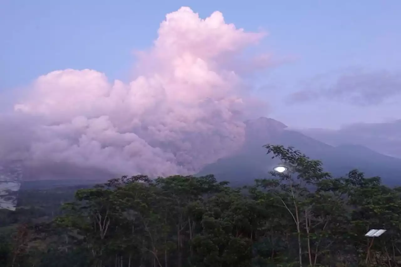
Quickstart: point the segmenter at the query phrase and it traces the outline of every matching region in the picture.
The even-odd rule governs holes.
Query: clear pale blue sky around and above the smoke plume
[[[401,88],[396,82],[391,83],[398,89],[392,90],[389,101],[375,105],[348,104],[344,94],[336,101],[330,96],[302,103],[285,101],[317,75],[335,80],[350,68],[368,74],[400,73],[399,0],[3,0],[0,103],[11,105],[7,96],[12,90],[58,69],[88,68],[110,79],[128,79],[132,51],[150,47],[165,15],[181,6],[189,6],[202,18],[219,10],[226,22],[237,27],[267,30],[269,36],[258,49],[294,58],[253,81],[257,87],[273,88],[257,91],[271,105],[267,116],[293,127],[338,127],[401,118],[397,99]],[[379,79],[375,85],[382,83]]]

